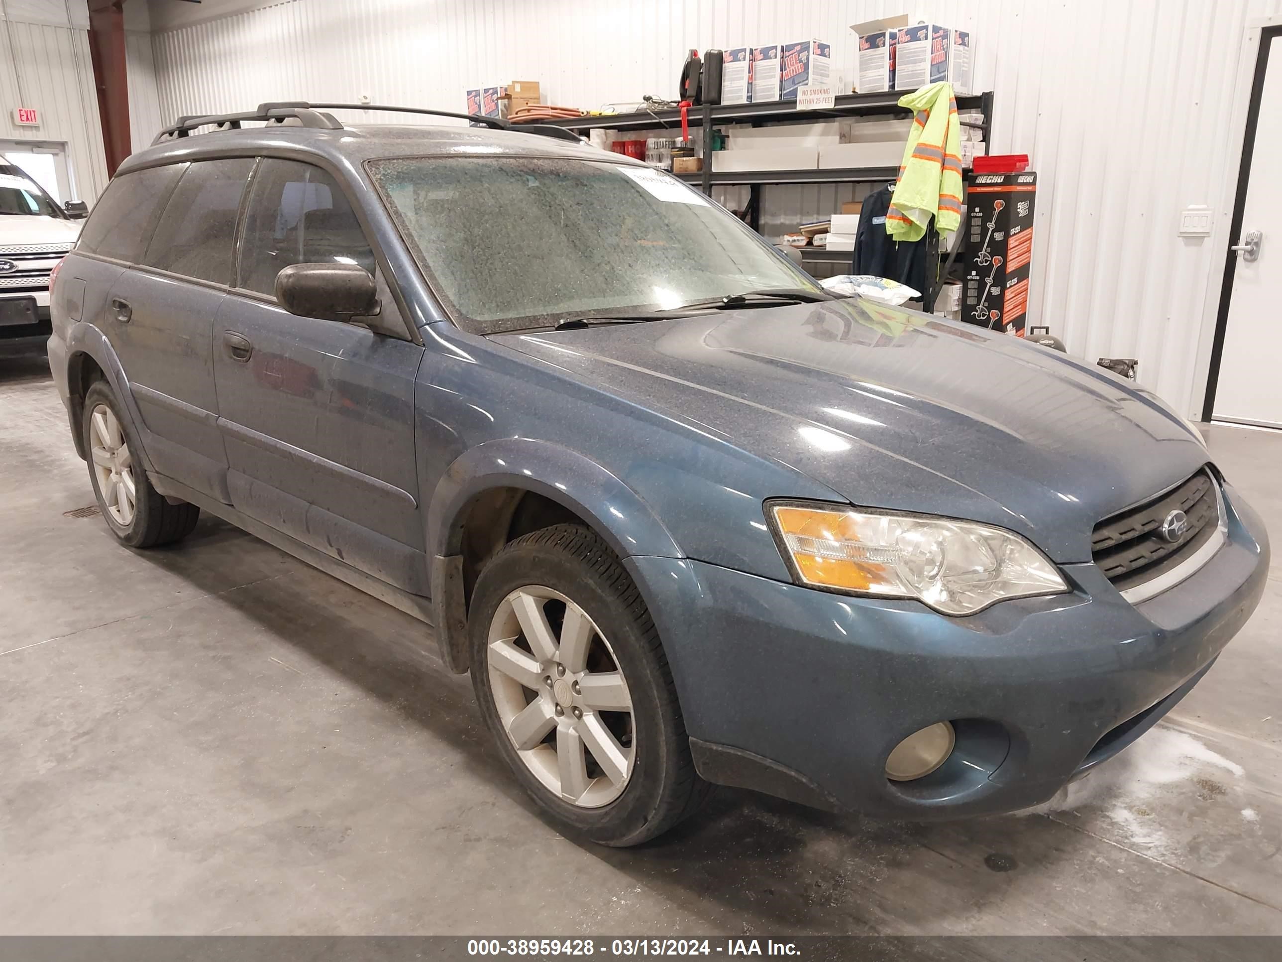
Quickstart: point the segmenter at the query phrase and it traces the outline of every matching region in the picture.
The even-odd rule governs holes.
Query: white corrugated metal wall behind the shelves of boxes
[[[1083,357],[1140,358],[1141,381],[1192,412],[1223,253],[1178,237],[1178,212],[1218,208],[1236,173],[1244,31],[1282,0],[286,0],[155,33],[155,73],[165,119],[364,94],[460,109],[469,86],[527,78],[592,108],[673,96],[690,47],[818,37],[846,69],[849,26],[905,6],[973,31],[977,86],[996,92],[991,149],[1038,171],[1031,322]],[[769,231],[846,194],[767,196]]]

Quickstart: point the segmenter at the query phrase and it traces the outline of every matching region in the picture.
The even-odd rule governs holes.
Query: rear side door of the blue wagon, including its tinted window
[[[232,280],[236,221],[254,158],[187,164],[140,263],[112,287],[108,317],[155,469],[229,500],[218,431],[213,327]]]

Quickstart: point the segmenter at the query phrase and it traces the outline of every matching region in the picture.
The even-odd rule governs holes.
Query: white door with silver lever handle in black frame
[[[1282,153],[1282,27],[1264,31],[1260,56],[1267,58],[1265,74],[1213,417],[1282,427],[1282,194],[1273,178]]]

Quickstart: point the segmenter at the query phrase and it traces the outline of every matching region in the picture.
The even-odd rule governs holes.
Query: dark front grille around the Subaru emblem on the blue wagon
[[[1188,527],[1177,541],[1168,541],[1161,526],[1176,511],[1185,513]],[[1096,525],[1091,534],[1091,554],[1108,580],[1124,591],[1179,564],[1218,527],[1215,481],[1203,468],[1165,494]]]

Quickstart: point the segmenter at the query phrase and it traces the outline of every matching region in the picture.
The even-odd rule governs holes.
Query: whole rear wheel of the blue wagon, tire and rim
[[[95,381],[85,392],[81,421],[90,484],[112,534],[129,548],[155,548],[190,535],[200,508],[186,502],[171,504],[151,486],[141,466],[133,463],[138,440],[121,416],[121,404],[106,381]]]

